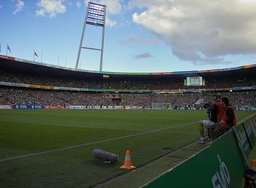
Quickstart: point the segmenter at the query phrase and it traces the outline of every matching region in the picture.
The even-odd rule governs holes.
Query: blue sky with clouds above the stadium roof
[[[1,0],[0,54],[75,68],[88,2]],[[255,0],[91,2],[107,8],[102,71],[194,71],[256,63]],[[100,48],[101,39],[102,27],[87,24],[82,46]],[[99,71],[99,62],[99,51],[83,49],[78,68]]]

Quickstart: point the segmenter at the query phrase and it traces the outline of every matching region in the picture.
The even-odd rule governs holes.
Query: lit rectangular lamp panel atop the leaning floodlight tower
[[[89,2],[87,10],[87,24],[95,26],[105,26],[105,5]]]

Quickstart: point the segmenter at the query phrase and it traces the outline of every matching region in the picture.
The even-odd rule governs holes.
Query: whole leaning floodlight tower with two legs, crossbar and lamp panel
[[[100,65],[99,71],[102,71],[102,61],[103,61],[103,48],[104,48],[104,35],[105,35],[105,14],[106,14],[106,6],[99,5],[94,2],[88,2],[87,5],[87,13],[85,14],[84,19],[84,27],[82,31],[81,41],[78,49],[78,58],[75,68],[78,69],[78,64],[81,55],[81,49],[87,50],[99,50],[100,53]],[[102,47],[101,48],[93,48],[93,47],[82,47],[84,41],[84,32],[86,25],[100,26],[102,27]]]

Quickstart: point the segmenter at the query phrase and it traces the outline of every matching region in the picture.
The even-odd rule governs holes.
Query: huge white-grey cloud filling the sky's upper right
[[[131,0],[133,22],[165,41],[181,60],[230,63],[226,55],[256,52],[256,1]]]

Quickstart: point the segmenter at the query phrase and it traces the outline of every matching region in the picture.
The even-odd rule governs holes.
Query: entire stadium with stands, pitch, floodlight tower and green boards
[[[90,3],[84,28],[104,36],[105,6]],[[253,185],[256,64],[102,71],[104,37],[100,49],[82,38],[76,68],[37,62],[35,51],[33,61],[8,56],[9,46],[0,55],[0,187]],[[78,68],[84,48],[101,52],[99,71]],[[237,126],[200,144],[215,96],[230,99]]]

